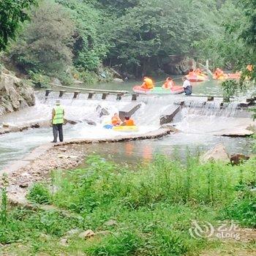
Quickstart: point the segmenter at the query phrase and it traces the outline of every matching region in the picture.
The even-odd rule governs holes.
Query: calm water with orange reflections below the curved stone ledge
[[[87,155],[99,154],[114,162],[135,164],[148,162],[154,159],[156,154],[162,154],[170,158],[185,158],[189,147],[192,155],[206,151],[222,143],[230,154],[250,154],[249,139],[215,137],[211,135],[187,135],[184,133],[169,135],[165,138],[153,140],[137,140],[126,143],[89,144],[78,146]],[[117,150],[116,150],[117,149]]]

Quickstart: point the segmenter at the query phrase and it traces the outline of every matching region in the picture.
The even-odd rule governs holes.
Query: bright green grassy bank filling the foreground
[[[89,157],[83,169],[54,172],[51,184],[35,184],[29,192],[31,202],[51,204],[64,213],[6,212],[3,204],[0,243],[7,246],[2,252],[197,255],[229,246],[253,251],[253,242],[224,243],[203,233],[195,238],[189,230],[192,220],[213,227],[224,220],[227,226],[234,220],[241,228],[256,227],[255,164],[256,159],[233,167],[201,165],[191,157],[185,164],[157,157],[147,166],[131,168]],[[85,238],[83,230],[95,234]]]

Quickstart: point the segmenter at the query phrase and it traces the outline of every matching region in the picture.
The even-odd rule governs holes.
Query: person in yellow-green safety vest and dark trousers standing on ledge
[[[60,142],[63,142],[63,124],[64,124],[64,108],[61,106],[60,100],[56,100],[56,106],[52,111],[52,124],[53,124],[53,141],[57,142],[58,134]]]

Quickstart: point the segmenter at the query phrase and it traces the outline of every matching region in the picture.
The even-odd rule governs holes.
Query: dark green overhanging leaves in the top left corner
[[[6,48],[9,39],[15,38],[20,23],[29,19],[25,10],[36,2],[36,0],[0,1],[0,50]]]

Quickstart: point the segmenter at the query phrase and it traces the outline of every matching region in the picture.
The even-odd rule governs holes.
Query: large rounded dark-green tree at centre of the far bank
[[[105,29],[112,45],[109,62],[139,75],[161,67],[169,55],[192,54],[194,38],[203,36],[194,10],[186,0],[140,1],[106,25],[112,28]]]

